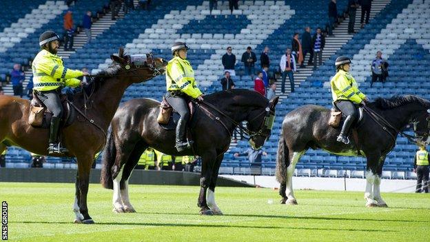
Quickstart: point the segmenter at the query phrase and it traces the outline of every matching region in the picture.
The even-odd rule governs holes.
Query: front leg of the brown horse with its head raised
[[[80,154],[78,159],[78,177],[79,177],[79,211],[83,215],[82,223],[94,223],[90,214],[88,214],[87,194],[88,185],[90,185],[90,171],[92,162],[94,162],[94,153]]]

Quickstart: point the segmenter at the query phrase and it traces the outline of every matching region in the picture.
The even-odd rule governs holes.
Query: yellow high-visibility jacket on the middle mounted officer
[[[197,88],[194,79],[194,70],[189,61],[174,57],[167,63],[166,67],[166,88],[167,91],[181,91],[193,99],[202,92]]]

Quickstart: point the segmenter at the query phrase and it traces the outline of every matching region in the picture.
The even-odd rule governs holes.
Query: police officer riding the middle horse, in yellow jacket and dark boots
[[[172,105],[174,110],[181,115],[176,126],[176,150],[181,152],[192,145],[192,141],[187,142],[185,137],[186,125],[190,119],[190,110],[188,110],[187,101],[197,99],[203,101],[203,94],[197,88],[194,79],[194,70],[189,61],[187,61],[188,47],[183,42],[175,42],[172,46],[173,59],[169,61],[166,67],[166,87],[167,94],[165,98]]]

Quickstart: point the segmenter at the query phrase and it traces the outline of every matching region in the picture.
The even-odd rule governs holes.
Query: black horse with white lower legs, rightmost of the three
[[[429,108],[429,101],[411,95],[379,98],[367,105],[367,109],[373,110],[387,121],[384,123],[382,119],[372,118],[369,112],[365,112],[365,117],[357,128],[360,153],[367,159],[365,200],[368,207],[387,206],[380,196],[382,166],[385,157],[396,145],[400,130],[413,123],[413,130],[420,137],[420,142],[429,143]],[[336,141],[340,128],[328,125],[329,115],[330,110],[327,108],[304,105],[285,116],[276,158],[276,179],[280,183],[280,196],[283,196],[281,203],[297,204],[292,176],[296,163],[309,148],[344,156],[358,156],[354,139],[350,138],[349,145]]]

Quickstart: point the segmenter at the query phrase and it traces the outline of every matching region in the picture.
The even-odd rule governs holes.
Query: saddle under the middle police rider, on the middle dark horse
[[[187,123],[190,125],[192,123],[194,117],[194,103],[192,101],[188,101],[188,108],[190,108],[190,119],[188,119]],[[160,108],[158,112],[157,121],[161,128],[165,130],[174,130],[176,129],[176,125],[178,124],[178,119],[181,115],[176,112],[172,106],[167,103],[165,97],[163,97],[163,101],[160,103]],[[190,126],[189,126],[190,127]]]

